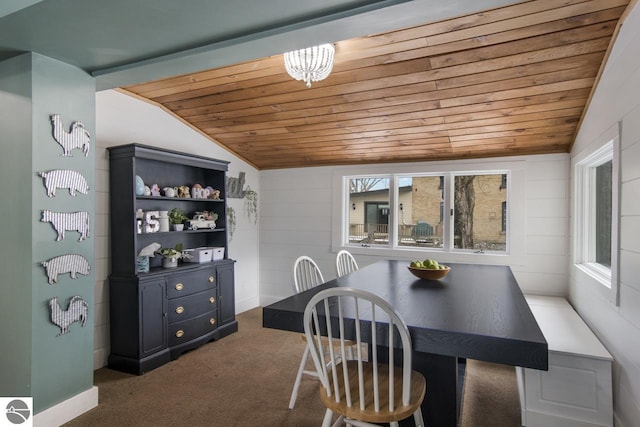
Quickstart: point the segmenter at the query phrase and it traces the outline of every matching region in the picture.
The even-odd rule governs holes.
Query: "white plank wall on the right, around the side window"
[[[617,427],[640,420],[640,7],[624,21],[571,152],[584,158],[622,123],[620,135],[619,301],[609,302],[598,285],[570,269],[570,302],[614,357],[613,394]]]

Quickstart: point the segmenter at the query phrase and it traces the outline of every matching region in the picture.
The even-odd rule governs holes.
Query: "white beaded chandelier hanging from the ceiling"
[[[284,67],[287,73],[296,80],[302,80],[311,87],[311,82],[327,78],[333,68],[333,53],[331,44],[308,47],[284,54]]]

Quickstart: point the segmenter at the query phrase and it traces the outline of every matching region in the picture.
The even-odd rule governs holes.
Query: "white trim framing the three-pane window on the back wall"
[[[508,243],[507,253],[433,249],[415,249],[411,247],[362,247],[360,245],[344,245],[343,238],[348,223],[347,204],[348,194],[345,188],[345,178],[354,176],[389,176],[392,178],[391,188],[395,186],[395,178],[406,175],[421,175],[429,173],[477,173],[487,174],[491,172],[509,172],[507,185],[507,198],[509,200],[509,215],[507,219]],[[515,158],[496,158],[486,162],[477,160],[468,161],[442,161],[429,163],[389,164],[389,165],[362,165],[349,168],[337,168],[333,172],[333,208],[331,244],[332,251],[337,252],[346,248],[354,254],[372,255],[387,258],[416,258],[420,259],[425,253],[434,252],[441,254],[443,261],[468,262],[478,264],[496,265],[521,265],[526,257],[526,161]],[[445,178],[447,179],[447,178]],[[517,190],[517,191],[514,191]],[[389,202],[395,203],[398,195],[394,191],[389,193]],[[392,205],[395,206],[395,205]],[[450,212],[451,206],[445,206],[445,212]],[[397,226],[397,219],[390,218],[390,224]],[[394,227],[391,227],[394,229]]]

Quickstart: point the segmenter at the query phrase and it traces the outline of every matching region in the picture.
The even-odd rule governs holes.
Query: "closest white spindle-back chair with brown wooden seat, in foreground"
[[[331,425],[334,413],[338,415],[334,425],[397,427],[398,421],[413,415],[416,426],[424,427],[420,405],[426,380],[411,369],[409,331],[389,303],[359,289],[326,289],[309,301],[304,331],[320,378],[320,399],[327,408],[323,427]],[[357,354],[347,360],[344,340],[352,335]],[[335,340],[340,343],[336,345]],[[370,344],[368,361],[363,360],[363,342]],[[402,350],[400,366],[394,365],[394,347]],[[388,364],[378,361],[379,352],[385,353],[382,360]],[[328,369],[325,354],[340,362]]]

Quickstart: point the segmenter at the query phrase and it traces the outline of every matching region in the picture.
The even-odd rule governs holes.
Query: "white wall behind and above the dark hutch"
[[[260,196],[257,170],[216,143],[184,125],[161,108],[117,91],[96,96],[96,219],[95,236],[95,338],[94,367],[107,364],[109,356],[109,158],[106,147],[140,143],[184,151],[229,163],[228,177],[245,172],[245,186]],[[245,187],[246,189],[246,187]],[[258,225],[245,214],[244,199],[227,199],[236,212],[237,228],[229,242],[235,259],[236,312],[258,306]]]

